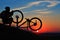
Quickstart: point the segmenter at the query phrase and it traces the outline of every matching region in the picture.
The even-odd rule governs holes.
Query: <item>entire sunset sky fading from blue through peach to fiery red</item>
[[[21,10],[24,18],[40,18],[43,25],[38,33],[60,32],[59,0],[0,0],[0,12],[6,6],[9,6],[11,10]]]

